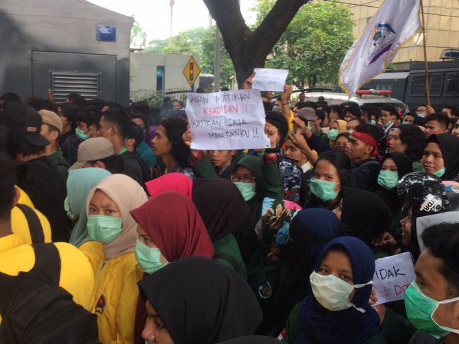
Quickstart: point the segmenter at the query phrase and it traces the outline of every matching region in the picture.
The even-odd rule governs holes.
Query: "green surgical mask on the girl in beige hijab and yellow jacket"
[[[122,223],[121,217],[89,215],[86,226],[88,226],[88,235],[92,240],[110,243],[121,234]]]

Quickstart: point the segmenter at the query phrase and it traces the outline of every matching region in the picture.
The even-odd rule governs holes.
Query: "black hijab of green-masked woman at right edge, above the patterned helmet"
[[[425,142],[434,142],[440,146],[441,155],[445,163],[445,174],[441,176],[442,181],[456,181],[459,174],[459,137],[450,133],[432,134]]]

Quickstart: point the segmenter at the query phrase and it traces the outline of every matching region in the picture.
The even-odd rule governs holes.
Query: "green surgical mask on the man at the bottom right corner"
[[[458,300],[459,297],[454,297],[454,299],[435,301],[425,295],[425,293],[419,289],[416,281],[413,281],[410,287],[405,291],[406,315],[415,328],[427,332],[437,339],[451,332],[459,333],[459,330],[440,326],[434,320],[434,313],[438,306]]]

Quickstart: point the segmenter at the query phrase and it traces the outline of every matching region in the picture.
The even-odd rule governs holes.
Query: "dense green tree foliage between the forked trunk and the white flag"
[[[261,23],[275,0],[258,0]],[[352,13],[348,5],[314,1],[303,5],[275,44],[266,68],[290,70],[287,82],[304,88],[316,82],[336,83],[343,57],[353,42]]]

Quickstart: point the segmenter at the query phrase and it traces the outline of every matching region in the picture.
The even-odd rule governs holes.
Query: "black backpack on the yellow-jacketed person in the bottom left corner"
[[[35,265],[29,272],[0,273],[0,344],[99,343],[97,316],[59,287],[58,249],[53,243],[32,247]]]

